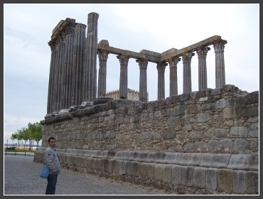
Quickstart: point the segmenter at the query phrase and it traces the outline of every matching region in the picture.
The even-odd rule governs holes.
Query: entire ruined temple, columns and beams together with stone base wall
[[[107,55],[121,66],[119,99],[41,121],[43,162],[48,137],[57,139],[63,168],[126,181],[174,194],[259,194],[259,92],[225,85],[220,36],[163,53],[135,53],[97,43],[99,15],[87,26],[66,18],[53,30],[48,113],[106,94]],[[87,27],[87,38],[85,28]],[[206,55],[215,49],[216,88],[207,87]],[[191,90],[190,60],[198,54],[199,90]],[[96,86],[96,56],[100,61]],[[129,58],[139,63],[139,101],[127,99]],[[183,60],[183,94],[177,93],[177,63]],[[158,99],[147,102],[147,63],[156,63]],[[170,96],[164,99],[164,69],[170,67]],[[80,72],[82,71],[82,72]],[[87,78],[90,77],[90,78]],[[97,98],[96,98],[97,93]],[[107,97],[106,97],[107,98]]]

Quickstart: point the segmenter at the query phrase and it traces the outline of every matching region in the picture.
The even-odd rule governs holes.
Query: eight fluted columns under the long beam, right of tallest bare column
[[[225,60],[224,60],[224,48],[226,41],[218,40],[214,41],[213,47],[215,49],[215,86],[216,88],[225,85]],[[210,48],[208,45],[201,45],[192,51],[182,53],[164,62],[157,63],[158,71],[158,99],[165,98],[165,78],[164,72],[166,65],[170,66],[170,96],[178,95],[178,78],[177,78],[177,64],[183,60],[183,93],[192,92],[191,83],[191,68],[190,63],[192,57],[196,52],[198,54],[198,89],[204,90],[207,85],[207,70],[206,70],[206,57]],[[100,60],[99,70],[99,84],[98,84],[98,97],[103,97],[106,93],[106,71],[107,71],[107,55],[110,52],[106,50],[98,50],[98,56]],[[128,55],[117,55],[120,63],[120,76],[119,76],[119,98],[127,99],[128,88]],[[166,63],[168,62],[168,63]],[[139,64],[139,100],[147,102],[147,65],[148,60],[137,59],[136,63]]]

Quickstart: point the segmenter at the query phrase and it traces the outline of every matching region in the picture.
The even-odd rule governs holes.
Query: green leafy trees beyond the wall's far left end
[[[20,130],[17,130],[14,134],[11,134],[11,140],[25,141],[24,148],[26,147],[26,141],[29,141],[29,150],[32,148],[32,143],[36,141],[37,149],[38,143],[42,139],[42,124],[35,122],[31,124],[28,123],[28,127],[23,127]]]

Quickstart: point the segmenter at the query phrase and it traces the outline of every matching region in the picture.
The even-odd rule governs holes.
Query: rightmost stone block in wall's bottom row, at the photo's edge
[[[245,182],[247,188],[247,194],[258,195],[259,194],[259,172],[247,171],[245,174]]]

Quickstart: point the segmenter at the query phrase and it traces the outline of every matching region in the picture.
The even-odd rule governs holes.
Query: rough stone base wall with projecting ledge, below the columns
[[[258,94],[224,85],[48,118],[34,161],[55,136],[64,168],[179,194],[258,194]]]

